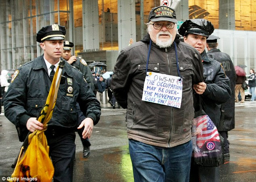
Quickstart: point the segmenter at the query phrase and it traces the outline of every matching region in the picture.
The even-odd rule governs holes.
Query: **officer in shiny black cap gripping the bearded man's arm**
[[[214,27],[205,19],[186,20],[179,28],[184,42],[193,46],[201,54],[206,90],[201,94],[202,109],[210,117],[216,128],[220,124],[219,105],[227,102],[231,96],[229,78],[221,64],[206,54],[206,39],[213,33]],[[218,182],[220,167],[203,167],[191,163],[190,181]]]

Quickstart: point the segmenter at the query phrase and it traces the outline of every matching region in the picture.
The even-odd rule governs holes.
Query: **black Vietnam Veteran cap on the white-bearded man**
[[[177,23],[175,10],[168,6],[158,6],[149,12],[149,21],[171,21]],[[148,21],[148,22],[149,22]]]

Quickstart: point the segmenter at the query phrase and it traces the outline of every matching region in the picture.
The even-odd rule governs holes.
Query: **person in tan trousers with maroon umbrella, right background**
[[[245,94],[242,84],[246,81],[246,72],[239,66],[235,66],[235,74],[237,75],[235,79],[235,102],[239,103],[238,94],[241,94],[241,102],[244,103]]]

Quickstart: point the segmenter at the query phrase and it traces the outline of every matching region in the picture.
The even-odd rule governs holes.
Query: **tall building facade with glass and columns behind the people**
[[[130,38],[139,41],[146,33],[149,11],[160,5],[160,0],[0,0],[0,3],[1,69],[17,69],[42,54],[36,33],[54,23],[66,27],[65,39],[74,42],[75,54],[118,51],[128,45]],[[215,35],[222,36],[224,32],[220,47],[231,55],[235,64],[248,63],[251,68],[256,65],[255,40],[246,37],[255,37],[256,0],[180,0],[176,14],[179,21],[208,19],[214,24]],[[128,28],[122,29],[124,25]],[[122,38],[126,42],[120,42]],[[121,44],[125,45],[120,47]]]

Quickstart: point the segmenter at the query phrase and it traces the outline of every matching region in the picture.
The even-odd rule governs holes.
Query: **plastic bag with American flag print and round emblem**
[[[224,139],[210,117],[202,114],[192,123],[192,162],[200,166],[214,167],[224,163]]]

